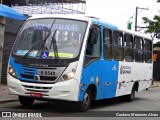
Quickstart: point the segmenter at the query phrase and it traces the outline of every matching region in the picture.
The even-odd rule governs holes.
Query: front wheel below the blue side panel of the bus
[[[84,93],[83,101],[78,105],[79,111],[87,111],[91,105],[91,92],[89,89]]]

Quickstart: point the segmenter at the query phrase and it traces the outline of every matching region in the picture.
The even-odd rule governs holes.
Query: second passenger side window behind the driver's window
[[[123,33],[113,31],[113,55],[114,60],[123,61]]]

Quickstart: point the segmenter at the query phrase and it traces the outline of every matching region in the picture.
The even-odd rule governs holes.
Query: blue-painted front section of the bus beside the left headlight
[[[28,67],[28,66],[22,66],[21,64],[17,64],[14,62],[14,58],[10,57],[10,63],[9,63],[13,69],[16,71],[18,79],[21,81],[26,82],[36,82],[34,80],[34,76],[38,74],[38,71],[34,67]],[[25,77],[22,77],[24,75]]]

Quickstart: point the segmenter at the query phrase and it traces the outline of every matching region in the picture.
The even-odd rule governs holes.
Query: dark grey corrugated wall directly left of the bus
[[[22,27],[24,21],[14,20],[14,19],[6,19],[6,28],[4,34],[4,44],[3,44],[3,61],[2,61],[2,72],[1,72],[1,84],[6,84],[7,80],[7,66],[8,60],[10,56],[10,52],[12,50],[12,46],[16,39],[16,36]]]

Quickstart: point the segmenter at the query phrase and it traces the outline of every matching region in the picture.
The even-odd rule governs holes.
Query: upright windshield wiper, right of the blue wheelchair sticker
[[[50,44],[50,49],[53,46],[55,59],[59,60],[58,49],[57,49],[57,41],[55,39],[56,32],[57,32],[57,29],[54,31],[54,34],[53,34],[53,37],[52,37],[52,41],[51,41],[51,44]]]

